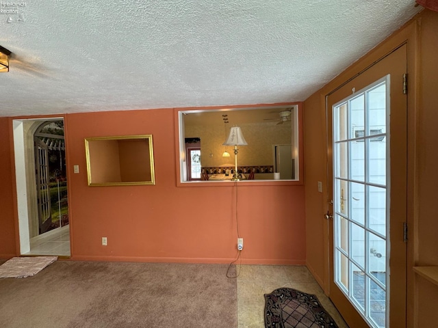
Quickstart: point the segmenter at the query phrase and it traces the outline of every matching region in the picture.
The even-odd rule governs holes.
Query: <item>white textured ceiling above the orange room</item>
[[[0,73],[0,116],[305,100],[414,16],[414,4],[1,2],[0,45],[13,57]]]

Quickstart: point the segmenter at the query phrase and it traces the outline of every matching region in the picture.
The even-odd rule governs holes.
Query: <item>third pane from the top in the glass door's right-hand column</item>
[[[368,221],[370,229],[386,235],[386,189],[368,187]]]

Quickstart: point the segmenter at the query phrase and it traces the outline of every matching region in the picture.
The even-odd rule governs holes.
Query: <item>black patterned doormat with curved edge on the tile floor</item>
[[[265,294],[266,328],[337,328],[315,295],[292,288]]]

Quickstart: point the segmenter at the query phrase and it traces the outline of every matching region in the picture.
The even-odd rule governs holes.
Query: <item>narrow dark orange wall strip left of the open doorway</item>
[[[0,258],[10,258],[16,255],[12,144],[9,136],[9,120],[0,118]]]

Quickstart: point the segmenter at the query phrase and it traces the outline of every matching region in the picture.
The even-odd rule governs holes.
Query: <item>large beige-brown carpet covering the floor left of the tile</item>
[[[233,328],[237,287],[227,269],[224,264],[57,261],[33,277],[0,279],[0,325]]]

